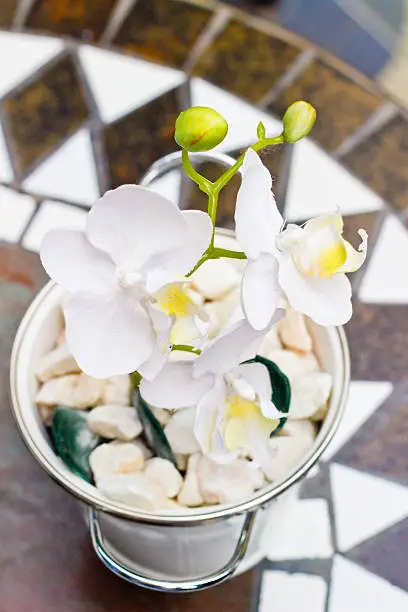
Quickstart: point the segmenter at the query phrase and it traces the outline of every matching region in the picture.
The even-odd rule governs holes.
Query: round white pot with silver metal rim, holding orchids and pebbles
[[[234,161],[223,154],[196,157],[227,165]],[[179,154],[159,160],[144,184],[179,166]],[[35,369],[40,356],[55,345],[61,328],[61,298],[61,290],[49,283],[28,309],[11,358],[11,396],[28,449],[41,467],[81,502],[98,557],[133,584],[171,592],[213,586],[253,567],[264,556],[267,530],[279,528],[280,513],[286,514],[297,483],[316,463],[339,425],[349,384],[343,330],[310,325],[316,355],[323,370],[333,376],[333,391],[313,447],[282,482],[234,506],[199,508],[186,515],[153,514],[106,499],[71,472],[52,449],[34,402],[38,386]]]

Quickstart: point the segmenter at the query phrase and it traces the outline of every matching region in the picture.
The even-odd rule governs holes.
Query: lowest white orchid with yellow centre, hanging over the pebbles
[[[142,397],[157,408],[197,406],[194,432],[205,454],[225,460],[244,452],[262,463],[282,414],[266,367],[242,362],[255,356],[263,336],[240,321],[195,361],[167,363],[153,381],[142,380]]]

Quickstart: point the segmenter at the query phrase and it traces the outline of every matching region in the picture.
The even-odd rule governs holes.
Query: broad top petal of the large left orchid
[[[166,198],[137,185],[108,191],[89,212],[86,234],[118,266],[140,269],[157,253],[182,246],[187,223]]]

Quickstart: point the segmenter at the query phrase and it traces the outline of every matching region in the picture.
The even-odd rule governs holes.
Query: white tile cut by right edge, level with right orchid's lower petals
[[[362,302],[408,303],[408,232],[390,215],[384,222],[360,287]]]

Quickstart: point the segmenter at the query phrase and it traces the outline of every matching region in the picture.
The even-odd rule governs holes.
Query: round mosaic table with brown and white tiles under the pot
[[[370,82],[305,41],[216,2],[23,0],[0,4],[0,612],[408,610],[408,122]],[[228,119],[222,150],[285,105],[319,109],[314,141],[264,156],[289,220],[339,206],[370,229],[348,327],[352,383],[329,452],[260,567],[191,596],[145,592],[96,560],[76,507],[12,423],[12,338],[45,282],[44,233],[84,222],[109,186],[175,149],[180,108]],[[209,176],[215,169],[210,164]],[[231,224],[231,187],[221,222]],[[202,206],[177,172],[155,186]]]

